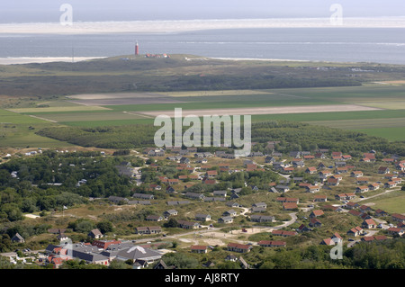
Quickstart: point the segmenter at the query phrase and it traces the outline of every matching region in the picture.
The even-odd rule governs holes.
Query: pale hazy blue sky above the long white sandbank
[[[58,22],[61,4],[82,22],[329,17],[331,4],[346,17],[405,16],[404,0],[2,0],[0,22]]]

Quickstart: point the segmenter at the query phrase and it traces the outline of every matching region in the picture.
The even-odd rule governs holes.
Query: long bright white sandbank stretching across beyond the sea
[[[132,22],[0,23],[1,34],[167,33],[249,28],[405,28],[405,17],[345,17],[342,24],[329,18],[195,19]]]

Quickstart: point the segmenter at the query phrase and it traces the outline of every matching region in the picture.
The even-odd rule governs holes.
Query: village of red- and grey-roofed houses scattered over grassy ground
[[[268,142],[269,146],[274,144]],[[104,152],[102,155],[105,157]],[[25,156],[40,157],[40,153]],[[133,150],[131,157],[142,158],[146,164],[133,167],[130,161],[123,161],[116,167],[121,175],[130,176],[138,189],[130,198],[110,196],[108,202],[117,210],[159,206],[162,212],[139,221],[134,239],[112,239],[93,229],[88,234],[92,240],[73,243],[65,229],[49,230],[60,244],[49,244],[28,262],[58,268],[70,259],[98,265],[129,260],[133,268],[169,268],[162,260],[166,252],[208,254],[220,247],[229,252],[222,260],[251,268],[244,256],[252,248],[290,247],[299,242],[294,238],[308,233],[318,235],[311,244],[344,243],[346,247],[401,238],[405,233],[403,214],[374,208],[370,202],[401,191],[405,177],[401,157],[384,157],[372,150],[353,158],[320,149],[270,155],[252,152],[249,157],[235,158],[224,151],[198,152],[197,148],[145,148]],[[175,175],[147,176],[147,182],[143,181],[145,175],[154,175],[166,165],[175,166]],[[226,184],[227,176],[240,173],[271,173],[277,179],[256,185],[245,182],[238,188]],[[157,195],[162,193],[165,199]],[[184,231],[170,232],[170,222]],[[180,245],[170,250],[165,243],[174,240]],[[16,234],[12,241],[23,244],[24,238]],[[3,256],[14,263],[25,262],[16,253]],[[209,261],[203,267],[213,265]]]

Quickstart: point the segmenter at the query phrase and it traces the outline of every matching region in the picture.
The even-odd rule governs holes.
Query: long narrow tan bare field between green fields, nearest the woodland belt
[[[264,107],[264,108],[229,108],[229,109],[211,109],[211,110],[183,110],[181,116],[195,115],[202,117],[204,115],[256,115],[256,114],[280,114],[280,113],[306,113],[306,112],[356,112],[356,111],[375,111],[379,108],[366,107],[357,104],[324,104],[324,105],[303,105],[289,107]],[[167,115],[175,117],[175,111],[152,111],[142,112],[146,115],[157,117],[158,115]]]

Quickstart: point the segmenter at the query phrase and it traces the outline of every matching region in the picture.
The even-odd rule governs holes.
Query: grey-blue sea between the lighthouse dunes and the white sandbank
[[[114,57],[134,53],[209,58],[405,65],[405,28],[248,28],[166,33],[1,33],[0,58]]]

